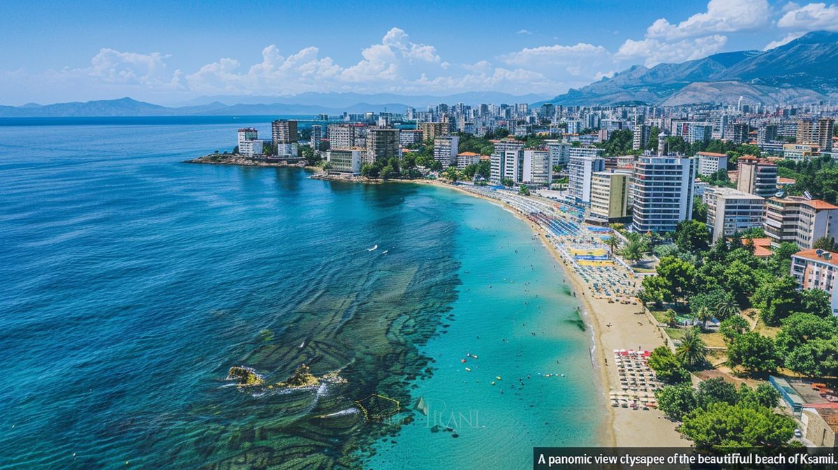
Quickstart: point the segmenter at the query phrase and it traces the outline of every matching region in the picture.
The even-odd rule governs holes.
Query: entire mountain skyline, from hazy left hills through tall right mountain
[[[678,106],[748,102],[767,105],[838,101],[838,33],[815,31],[768,51],[714,54],[681,64],[652,68],[634,65],[611,78],[549,99],[473,91],[448,96],[393,93],[303,93],[296,96],[200,96],[180,106],[159,106],[131,98],[23,106],[0,106],[0,117],[59,116],[256,116],[338,115],[366,111],[403,112],[440,103],[542,103],[615,105],[644,103]],[[546,101],[542,101],[546,100]]]

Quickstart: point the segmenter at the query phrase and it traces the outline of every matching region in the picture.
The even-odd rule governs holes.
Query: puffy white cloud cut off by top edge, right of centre
[[[705,13],[696,13],[678,24],[660,18],[646,29],[653,39],[681,39],[714,33],[732,33],[768,23],[766,0],[710,0]]]

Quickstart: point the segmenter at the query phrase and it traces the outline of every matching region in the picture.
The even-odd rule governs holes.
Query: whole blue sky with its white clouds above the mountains
[[[556,95],[630,65],[838,30],[835,3],[0,3],[0,104],[468,90]]]

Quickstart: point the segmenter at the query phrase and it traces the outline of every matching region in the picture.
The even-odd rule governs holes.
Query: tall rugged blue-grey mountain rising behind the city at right
[[[735,103],[739,96],[768,105],[838,100],[838,33],[815,31],[764,52],[728,52],[651,69],[634,65],[546,102],[677,106]]]

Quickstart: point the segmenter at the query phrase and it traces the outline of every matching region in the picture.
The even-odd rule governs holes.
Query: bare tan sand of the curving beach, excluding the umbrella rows
[[[480,194],[474,194],[466,189],[441,181],[418,180],[409,183],[431,184],[447,189],[454,189],[473,197],[504,204],[496,199],[489,199]],[[620,382],[617,368],[613,361],[614,349],[654,349],[664,345],[664,339],[654,326],[652,319],[642,312],[639,305],[625,305],[622,303],[608,303],[607,300],[594,298],[593,292],[582,281],[582,278],[568,266],[568,261],[561,256],[556,247],[546,238],[545,230],[527,219],[524,214],[504,204],[520,220],[530,225],[533,233],[541,238],[541,243],[551,253],[551,256],[565,267],[567,278],[573,291],[582,302],[583,315],[587,323],[593,328],[593,369],[600,374],[603,384],[603,403],[608,402],[608,393],[619,390]],[[607,325],[611,325],[610,327]],[[685,447],[689,441],[675,431],[675,422],[668,420],[661,411],[633,410],[631,408],[608,407],[608,422],[610,429],[603,436],[601,446],[617,447]]]

